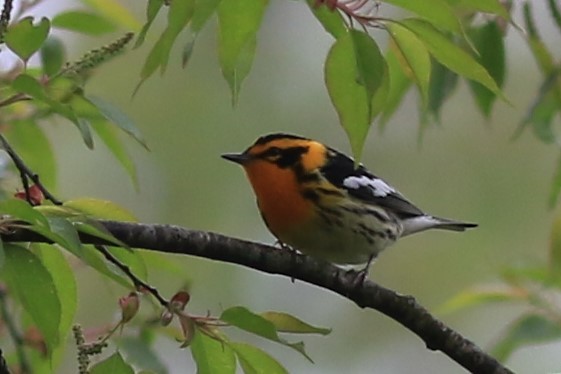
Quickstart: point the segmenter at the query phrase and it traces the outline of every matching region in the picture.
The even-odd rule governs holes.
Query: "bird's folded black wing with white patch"
[[[399,218],[424,215],[395,188],[370,173],[362,164],[355,168],[354,160],[334,149],[328,150],[329,162],[321,173],[335,186],[366,204],[384,207]]]

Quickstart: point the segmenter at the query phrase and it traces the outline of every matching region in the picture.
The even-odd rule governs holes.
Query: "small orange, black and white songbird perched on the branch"
[[[315,140],[270,134],[222,157],[245,169],[261,216],[281,243],[335,264],[366,264],[364,272],[400,237],[477,226],[424,213],[362,164]]]

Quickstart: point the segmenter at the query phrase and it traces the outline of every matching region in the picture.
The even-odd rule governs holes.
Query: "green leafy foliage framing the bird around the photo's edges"
[[[111,0],[84,1],[86,9],[64,10],[52,18],[27,16],[41,2],[21,1],[17,9],[13,9],[14,4],[5,1],[0,15],[2,53],[10,50],[16,56],[14,65],[3,69],[0,76],[0,135],[5,135],[48,189],[56,189],[57,168],[53,147],[44,135],[49,120],[72,123],[88,148],[94,148],[92,133],[96,133],[135,183],[136,170],[120,133],[146,147],[142,134],[126,114],[102,98],[88,95],[86,89],[88,79],[98,66],[126,52],[133,34],[126,33],[113,43],[87,52],[77,61],[67,61],[67,45],[53,33],[54,29],[94,37],[140,30],[135,37],[135,48],[145,42],[149,32],[159,33],[140,70],[138,90],[158,69],[165,72],[172,48],[177,44],[183,50],[181,62],[187,66],[199,32],[216,16],[218,60],[235,105],[252,67],[258,32],[267,26],[263,25],[263,19],[269,6],[267,0],[148,0],[146,20],[140,27],[126,8]],[[386,3],[403,8],[410,16],[404,19],[384,17]],[[561,35],[558,4],[548,0],[548,5]],[[412,87],[418,91],[423,123],[439,120],[444,103],[461,79],[469,82],[477,109],[485,117],[492,115],[497,98],[508,101],[501,91],[507,79],[503,37],[509,28],[519,31],[510,18],[510,8],[510,1],[499,0],[303,2],[303,11],[310,11],[334,38],[325,61],[325,84],[356,158],[360,158],[371,125],[378,121],[384,126]],[[152,30],[154,21],[163,13],[166,13],[163,30]],[[518,133],[530,127],[544,143],[559,145],[555,125],[561,110],[561,62],[554,60],[550,47],[540,38],[530,1],[524,3],[523,22],[525,39],[543,82],[520,121]],[[370,28],[388,33],[389,45],[385,51],[369,34]],[[33,62],[34,56],[39,57],[38,64]],[[558,168],[550,196],[552,205],[561,192],[561,162]],[[83,199],[62,205],[52,200],[50,204],[37,190],[33,190],[36,195],[31,196],[31,189],[36,187],[25,185],[30,177],[22,176],[23,193],[17,193],[15,199],[3,197],[0,201],[0,231],[25,223],[26,227],[48,237],[55,246],[100,274],[135,291],[130,272],[144,278],[147,264],[136,251],[118,248],[122,243],[90,218],[129,221],[134,217],[113,203],[99,200]],[[5,195],[6,191],[2,191],[2,196]],[[129,273],[108,264],[95,248],[83,246],[78,239],[79,232],[113,242],[116,247],[109,247],[108,253],[125,264]],[[510,269],[503,274],[504,286],[469,290],[444,306],[444,310],[452,311],[492,302],[527,304],[528,312],[513,322],[495,346],[495,353],[501,359],[506,359],[521,345],[561,338],[561,309],[551,297],[551,293],[557,294],[561,287],[558,275],[561,218],[556,219],[551,237],[547,265]],[[76,282],[68,258],[52,248],[47,249],[44,244],[0,242],[0,277],[10,296],[6,298],[5,291],[0,291],[0,309],[12,338],[19,342],[14,354],[7,356],[12,366],[48,371],[60,362],[77,307]],[[121,299],[122,320],[107,333],[102,343],[133,319],[138,311],[138,295],[134,295]],[[90,367],[91,372],[133,372],[126,360],[147,370],[165,371],[152,349],[153,335],[157,333],[189,346],[199,372],[231,373],[238,363],[246,373],[283,373],[286,370],[274,358],[257,347],[230,341],[222,328],[235,326],[295,349],[308,359],[301,342],[288,342],[279,333],[329,332],[286,314],[259,315],[243,307],[227,309],[216,318],[195,317],[184,312],[187,302],[188,294],[179,292],[162,315],[154,317],[157,308],[146,313],[145,322],[135,325],[138,337],[116,339],[116,344],[127,353],[126,358],[115,353]],[[8,320],[7,311],[13,308],[23,313],[16,320]],[[154,320],[167,324],[174,318],[179,320],[179,329],[156,328],[151,324]],[[136,320],[133,319],[133,323]],[[23,336],[19,331],[35,333]],[[80,367],[88,370],[88,357],[99,353],[105,345],[87,344],[79,328],[75,328],[74,336],[79,347]],[[37,350],[40,355],[30,354]],[[148,363],[147,357],[151,357]]]

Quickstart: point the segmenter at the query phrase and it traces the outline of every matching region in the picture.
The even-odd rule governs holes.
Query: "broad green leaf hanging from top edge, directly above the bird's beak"
[[[218,6],[218,57],[222,75],[232,91],[233,105],[251,70],[257,31],[268,3],[268,0],[222,0]]]

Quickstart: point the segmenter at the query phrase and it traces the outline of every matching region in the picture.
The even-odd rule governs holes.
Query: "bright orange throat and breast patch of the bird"
[[[244,165],[255,191],[259,210],[271,232],[282,240],[282,234],[306,223],[314,213],[312,202],[305,199],[290,168],[261,160]]]

